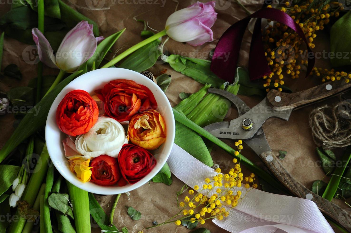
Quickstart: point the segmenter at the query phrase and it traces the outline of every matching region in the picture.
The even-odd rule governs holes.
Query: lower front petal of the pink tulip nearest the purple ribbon
[[[213,32],[199,20],[183,22],[171,27],[167,34],[176,41],[188,42],[192,46],[202,45],[205,42],[213,41]]]

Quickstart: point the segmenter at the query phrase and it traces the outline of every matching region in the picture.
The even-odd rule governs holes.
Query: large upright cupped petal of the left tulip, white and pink
[[[66,71],[74,72],[94,54],[97,46],[92,32],[92,25],[81,21],[69,31],[56,53],[57,66]]]

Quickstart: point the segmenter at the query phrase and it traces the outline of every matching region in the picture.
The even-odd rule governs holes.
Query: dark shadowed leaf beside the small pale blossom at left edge
[[[14,106],[32,107],[34,104],[34,91],[32,87],[13,87],[6,95]]]

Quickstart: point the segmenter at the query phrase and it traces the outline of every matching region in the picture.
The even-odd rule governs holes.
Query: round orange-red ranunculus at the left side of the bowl
[[[67,93],[57,107],[56,122],[62,132],[77,136],[88,132],[98,116],[98,105],[89,93],[74,90]]]

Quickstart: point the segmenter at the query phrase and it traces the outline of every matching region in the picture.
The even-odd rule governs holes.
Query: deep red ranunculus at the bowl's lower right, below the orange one
[[[124,179],[134,184],[151,172],[156,159],[144,148],[124,144],[118,154],[118,163]]]

